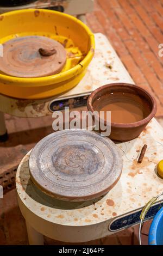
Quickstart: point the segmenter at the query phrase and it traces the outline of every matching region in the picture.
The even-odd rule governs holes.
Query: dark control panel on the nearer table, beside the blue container
[[[163,207],[163,203],[153,205],[147,212],[145,220],[153,218],[156,213]],[[116,231],[122,228],[129,227],[130,225],[138,224],[140,222],[141,211],[136,211],[133,214],[129,214],[120,218],[115,219],[109,225],[110,231]]]

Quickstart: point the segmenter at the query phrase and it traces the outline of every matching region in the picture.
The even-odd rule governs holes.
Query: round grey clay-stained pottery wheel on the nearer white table
[[[103,196],[118,181],[122,157],[108,138],[86,130],[54,132],[36,144],[29,157],[37,187],[61,200]]]

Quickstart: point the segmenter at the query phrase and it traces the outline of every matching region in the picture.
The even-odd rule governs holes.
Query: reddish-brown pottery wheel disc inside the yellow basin
[[[55,53],[42,56],[39,49]],[[66,51],[59,42],[45,36],[23,36],[3,44],[0,70],[16,77],[43,77],[59,73],[66,63]]]

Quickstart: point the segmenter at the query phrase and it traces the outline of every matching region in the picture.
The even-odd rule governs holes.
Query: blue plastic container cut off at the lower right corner
[[[148,245],[163,245],[163,207],[152,221],[149,229]]]

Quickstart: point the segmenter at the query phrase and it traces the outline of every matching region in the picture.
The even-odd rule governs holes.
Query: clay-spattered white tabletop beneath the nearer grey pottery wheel
[[[142,163],[137,163],[144,144],[148,145],[145,157]],[[86,231],[92,236],[91,227],[95,225],[96,234],[98,229],[101,237],[109,235],[108,224],[114,218],[142,209],[149,199],[163,190],[163,179],[156,173],[156,164],[162,159],[163,130],[154,118],[138,138],[118,143],[117,146],[123,154],[120,180],[104,197],[87,202],[64,202],[38,190],[30,179],[28,153],[16,174],[16,188],[21,204],[31,214],[47,222],[58,223],[59,227],[89,226],[90,233],[88,229]]]

